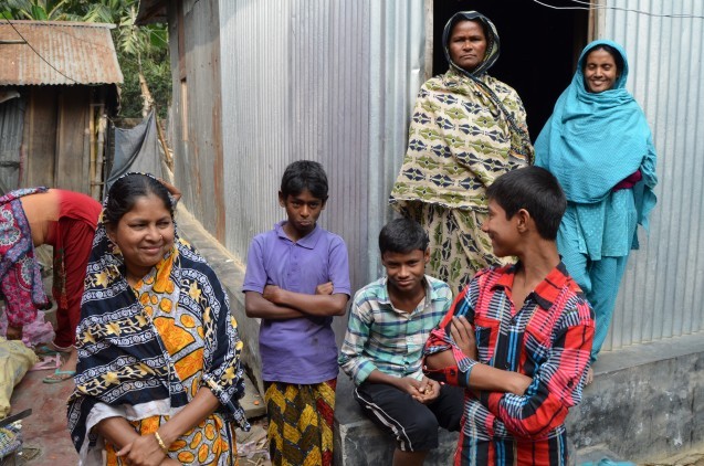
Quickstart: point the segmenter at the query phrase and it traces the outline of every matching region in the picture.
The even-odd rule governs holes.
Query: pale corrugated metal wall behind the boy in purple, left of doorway
[[[423,80],[423,1],[222,0],[220,27],[225,246],[244,260],[252,236],[285,216],[285,166],[317,160],[330,184],[321,224],[345,239],[360,287],[377,276]]]

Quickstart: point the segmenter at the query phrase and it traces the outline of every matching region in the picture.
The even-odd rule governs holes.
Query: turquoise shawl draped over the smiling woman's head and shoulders
[[[623,59],[623,70],[611,89],[591,93],[584,67],[587,55],[598,45],[613,47]],[[643,110],[626,89],[628,72],[621,45],[605,40],[587,45],[571,84],[535,142],[535,165],[555,174],[567,199],[578,203],[601,201],[619,181],[640,169],[643,182],[633,192],[639,222],[645,226],[655,204],[655,148]]]

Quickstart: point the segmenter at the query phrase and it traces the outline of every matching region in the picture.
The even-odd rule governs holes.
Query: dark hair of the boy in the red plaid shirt
[[[567,199],[557,178],[540,167],[525,167],[502,174],[486,189],[486,198],[506,211],[506,219],[521,209],[528,211],[545,240],[557,237],[567,209]]]

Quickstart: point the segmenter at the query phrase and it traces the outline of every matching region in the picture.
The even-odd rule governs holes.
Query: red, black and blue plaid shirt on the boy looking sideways
[[[593,314],[561,263],[516,309],[515,272],[512,265],[477,273],[425,345],[425,354],[452,350],[456,366],[429,377],[454,385],[467,386],[477,363],[533,378],[523,395],[466,391],[455,465],[567,460],[564,421],[567,410],[581,400]],[[453,316],[465,316],[473,325],[479,361],[452,341]]]

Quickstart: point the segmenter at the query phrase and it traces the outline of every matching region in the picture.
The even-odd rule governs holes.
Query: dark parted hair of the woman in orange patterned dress
[[[124,214],[129,212],[138,198],[150,194],[164,201],[164,206],[174,218],[174,204],[169,198],[169,191],[155,178],[143,173],[129,173],[124,176],[111,187],[105,204],[105,221],[116,225]]]

